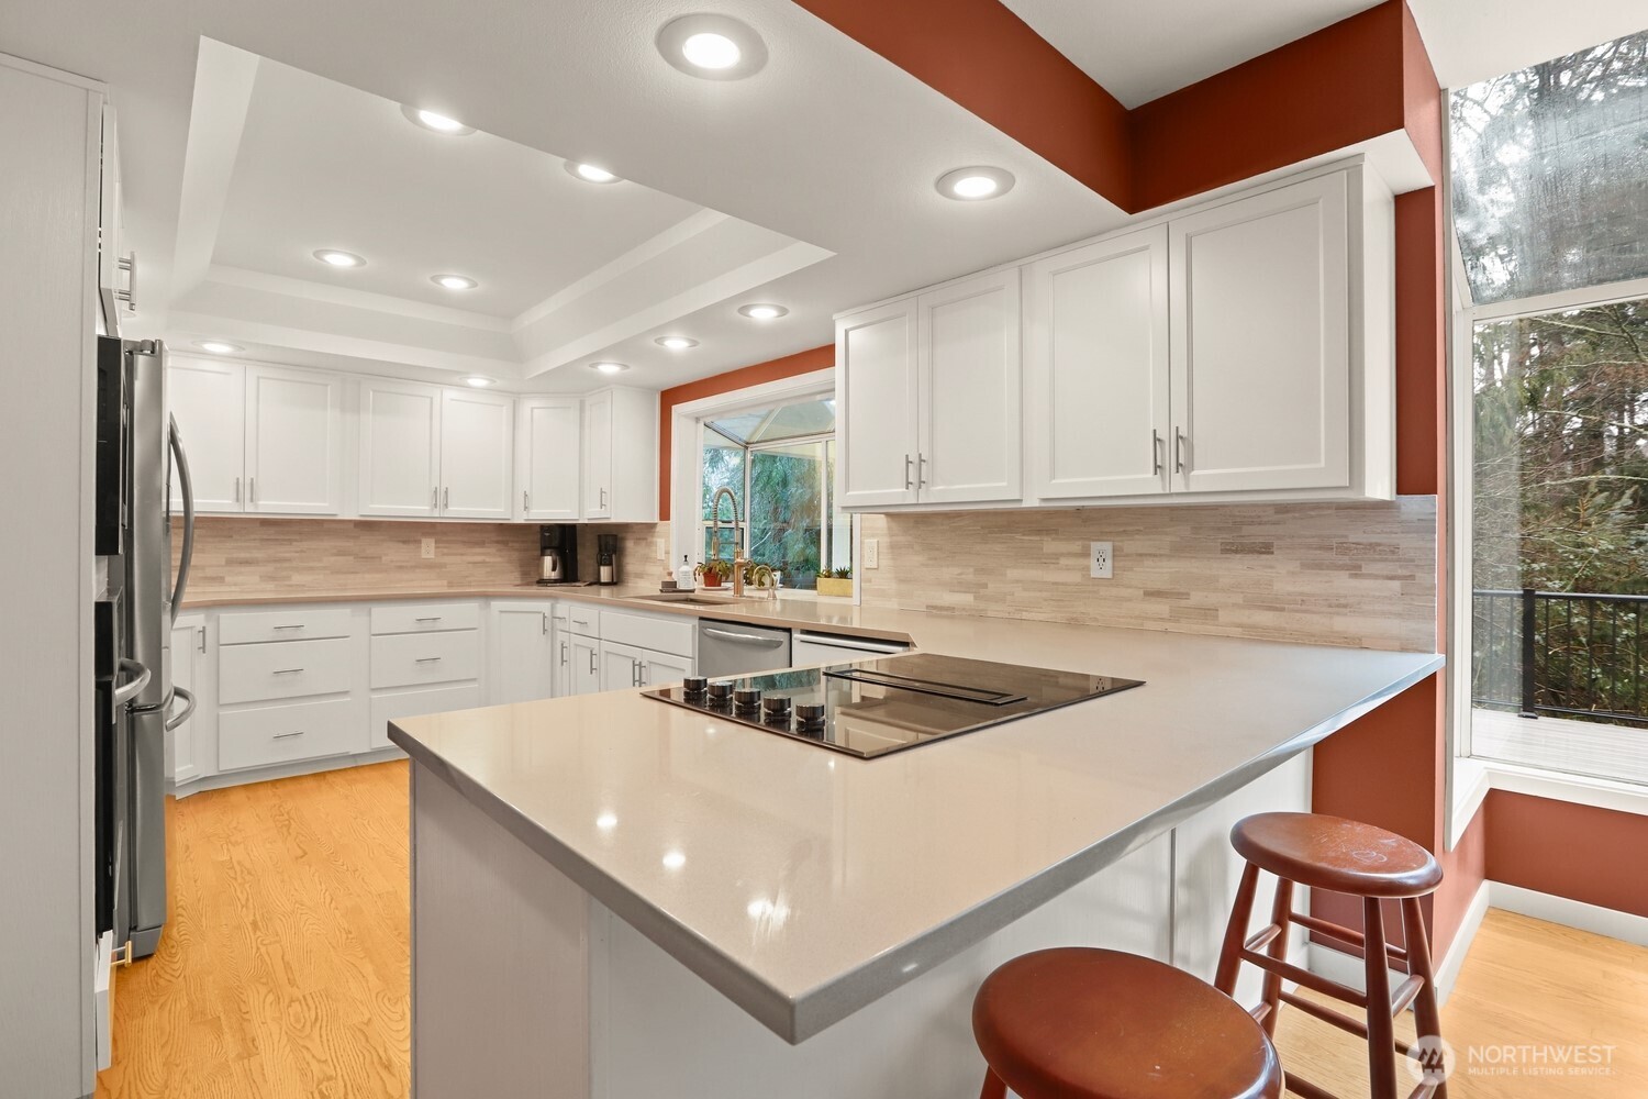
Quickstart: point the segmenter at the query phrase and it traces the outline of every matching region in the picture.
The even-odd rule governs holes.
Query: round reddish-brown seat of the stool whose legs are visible
[[[1231,845],[1280,878],[1351,896],[1424,896],[1442,882],[1442,865],[1419,844],[1345,817],[1261,812],[1231,829]]]

